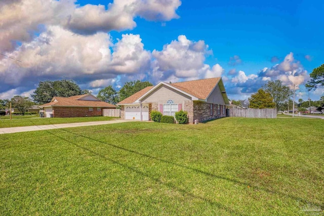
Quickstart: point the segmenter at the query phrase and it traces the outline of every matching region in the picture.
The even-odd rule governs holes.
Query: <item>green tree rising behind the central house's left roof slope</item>
[[[121,88],[118,92],[118,101],[123,101],[124,99],[130,97],[131,95],[145,89],[146,87],[152,86],[153,84],[149,81],[130,81],[125,82],[123,88]]]

